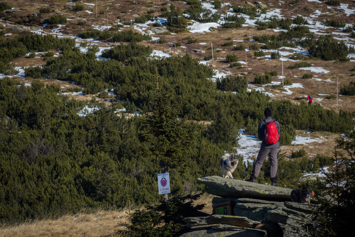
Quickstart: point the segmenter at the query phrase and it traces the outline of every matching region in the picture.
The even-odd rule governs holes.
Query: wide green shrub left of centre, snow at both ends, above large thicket
[[[153,49],[149,46],[146,47],[144,45],[139,45],[130,42],[127,45],[119,44],[116,45],[114,48],[105,50],[102,53],[102,56],[123,62],[127,59],[130,59],[131,57],[141,57],[141,56],[148,57],[149,55],[152,54],[152,52]]]

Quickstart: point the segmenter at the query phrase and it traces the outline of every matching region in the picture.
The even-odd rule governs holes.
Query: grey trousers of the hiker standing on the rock
[[[255,165],[253,167],[253,172],[251,174],[251,177],[257,178],[259,176],[261,165],[266,159],[266,156],[269,155],[270,165],[271,165],[270,179],[272,182],[276,182],[278,152],[279,152],[279,148],[272,148],[272,149],[260,148],[258,157],[256,158]]]

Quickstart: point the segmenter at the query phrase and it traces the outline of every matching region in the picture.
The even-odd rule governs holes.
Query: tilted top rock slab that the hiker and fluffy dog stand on
[[[259,183],[252,183],[219,176],[202,176],[196,178],[205,184],[207,193],[223,198],[256,198],[263,200],[290,201],[292,189],[280,188]]]

